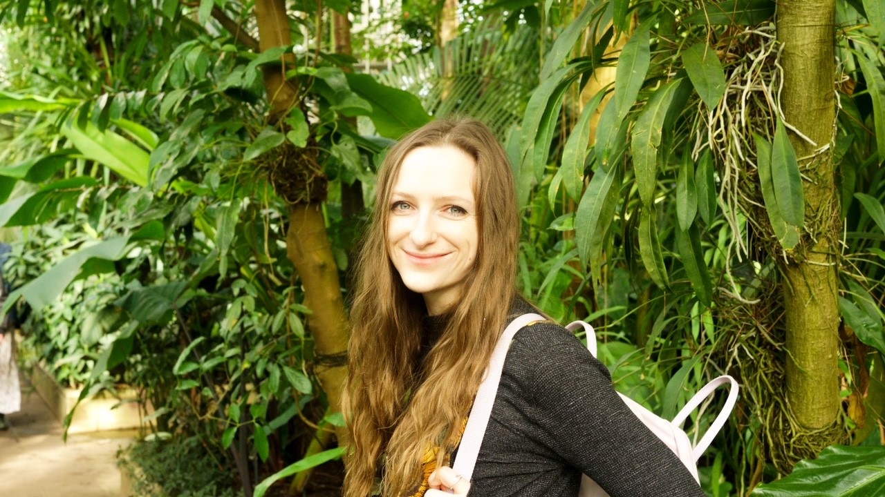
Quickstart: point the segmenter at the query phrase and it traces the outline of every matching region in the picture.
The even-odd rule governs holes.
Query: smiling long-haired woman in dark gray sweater
[[[519,329],[473,469],[450,468],[516,292],[510,164],[486,126],[439,120],[390,150],[351,307],[345,497],[704,495],[632,414],[608,370],[548,321]]]

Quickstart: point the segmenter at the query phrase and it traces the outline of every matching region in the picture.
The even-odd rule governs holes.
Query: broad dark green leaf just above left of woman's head
[[[346,74],[346,77],[350,89],[372,104],[369,119],[381,136],[398,140],[433,119],[411,93],[384,86],[368,74]]]

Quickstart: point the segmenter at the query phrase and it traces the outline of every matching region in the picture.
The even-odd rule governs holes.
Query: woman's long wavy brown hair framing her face
[[[400,164],[419,147],[454,146],[476,161],[479,248],[449,325],[418,364],[423,297],[406,288],[390,262],[386,233],[390,190]],[[343,412],[350,431],[345,497],[366,497],[381,476],[385,496],[411,495],[429,447],[437,464],[457,446],[461,428],[516,294],[519,244],[513,174],[504,149],[474,119],[440,119],[390,149],[381,171],[350,310],[349,377]],[[416,378],[423,368],[423,381]]]

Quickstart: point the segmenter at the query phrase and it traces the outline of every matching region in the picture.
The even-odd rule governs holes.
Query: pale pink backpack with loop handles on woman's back
[[[504,359],[507,356],[507,349],[510,348],[510,342],[513,339],[513,336],[523,327],[535,323],[536,321],[544,320],[546,320],[544,317],[537,314],[524,314],[514,319],[504,330],[501,338],[498,339],[491,360],[489,361],[489,369],[486,371],[486,376],[483,378],[480,388],[476,393],[476,398],[473,401],[473,409],[470,411],[470,417],[467,419],[464,435],[461,437],[461,444],[458,447],[458,455],[455,458],[455,463],[452,465],[452,469],[454,469],[458,475],[461,475],[468,480],[473,477],[473,467],[476,464],[476,457],[480,454],[482,438],[485,435],[486,426],[489,424],[489,416],[491,415],[492,405],[495,403],[498,382],[501,380]],[[566,326],[566,328],[572,332],[583,328],[585,333],[587,333],[587,348],[590,353],[596,357],[596,332],[593,330],[593,326],[590,326],[583,321],[575,321]],[[691,440],[689,440],[689,435],[681,429],[682,423],[688,419],[689,414],[697,409],[697,407],[700,406],[718,386],[725,384],[731,386],[725,406],[716,417],[716,420],[710,425],[710,429],[704,433],[704,437],[693,446]],[[727,421],[728,416],[731,414],[732,409],[735,408],[738,390],[739,388],[735,378],[728,375],[715,378],[701,388],[700,392],[695,394],[695,396],[689,400],[685,407],[679,411],[679,414],[673,418],[673,421],[667,421],[662,417],[658,417],[658,415],[651,412],[649,409],[645,409],[638,402],[633,401],[626,395],[619,395],[627,404],[627,407],[634,412],[636,417],[638,417],[640,421],[642,421],[643,424],[645,424],[651,432],[658,437],[658,439],[663,440],[666,446],[673,450],[673,454],[685,464],[685,467],[689,469],[691,475],[697,480],[697,460],[704,454],[707,447],[710,447],[716,433],[720,431]],[[578,495],[579,497],[608,497],[608,493],[605,493],[605,491],[600,486],[596,485],[596,482],[590,479],[587,475],[583,475],[581,478],[581,492],[579,492]]]

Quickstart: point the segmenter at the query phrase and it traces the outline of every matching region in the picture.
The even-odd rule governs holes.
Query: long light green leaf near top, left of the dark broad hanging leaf
[[[627,112],[636,102],[639,90],[643,88],[645,74],[651,65],[650,27],[656,19],[651,17],[636,27],[633,35],[624,44],[618,57],[614,79],[613,102],[618,110],[618,122],[627,117]]]

